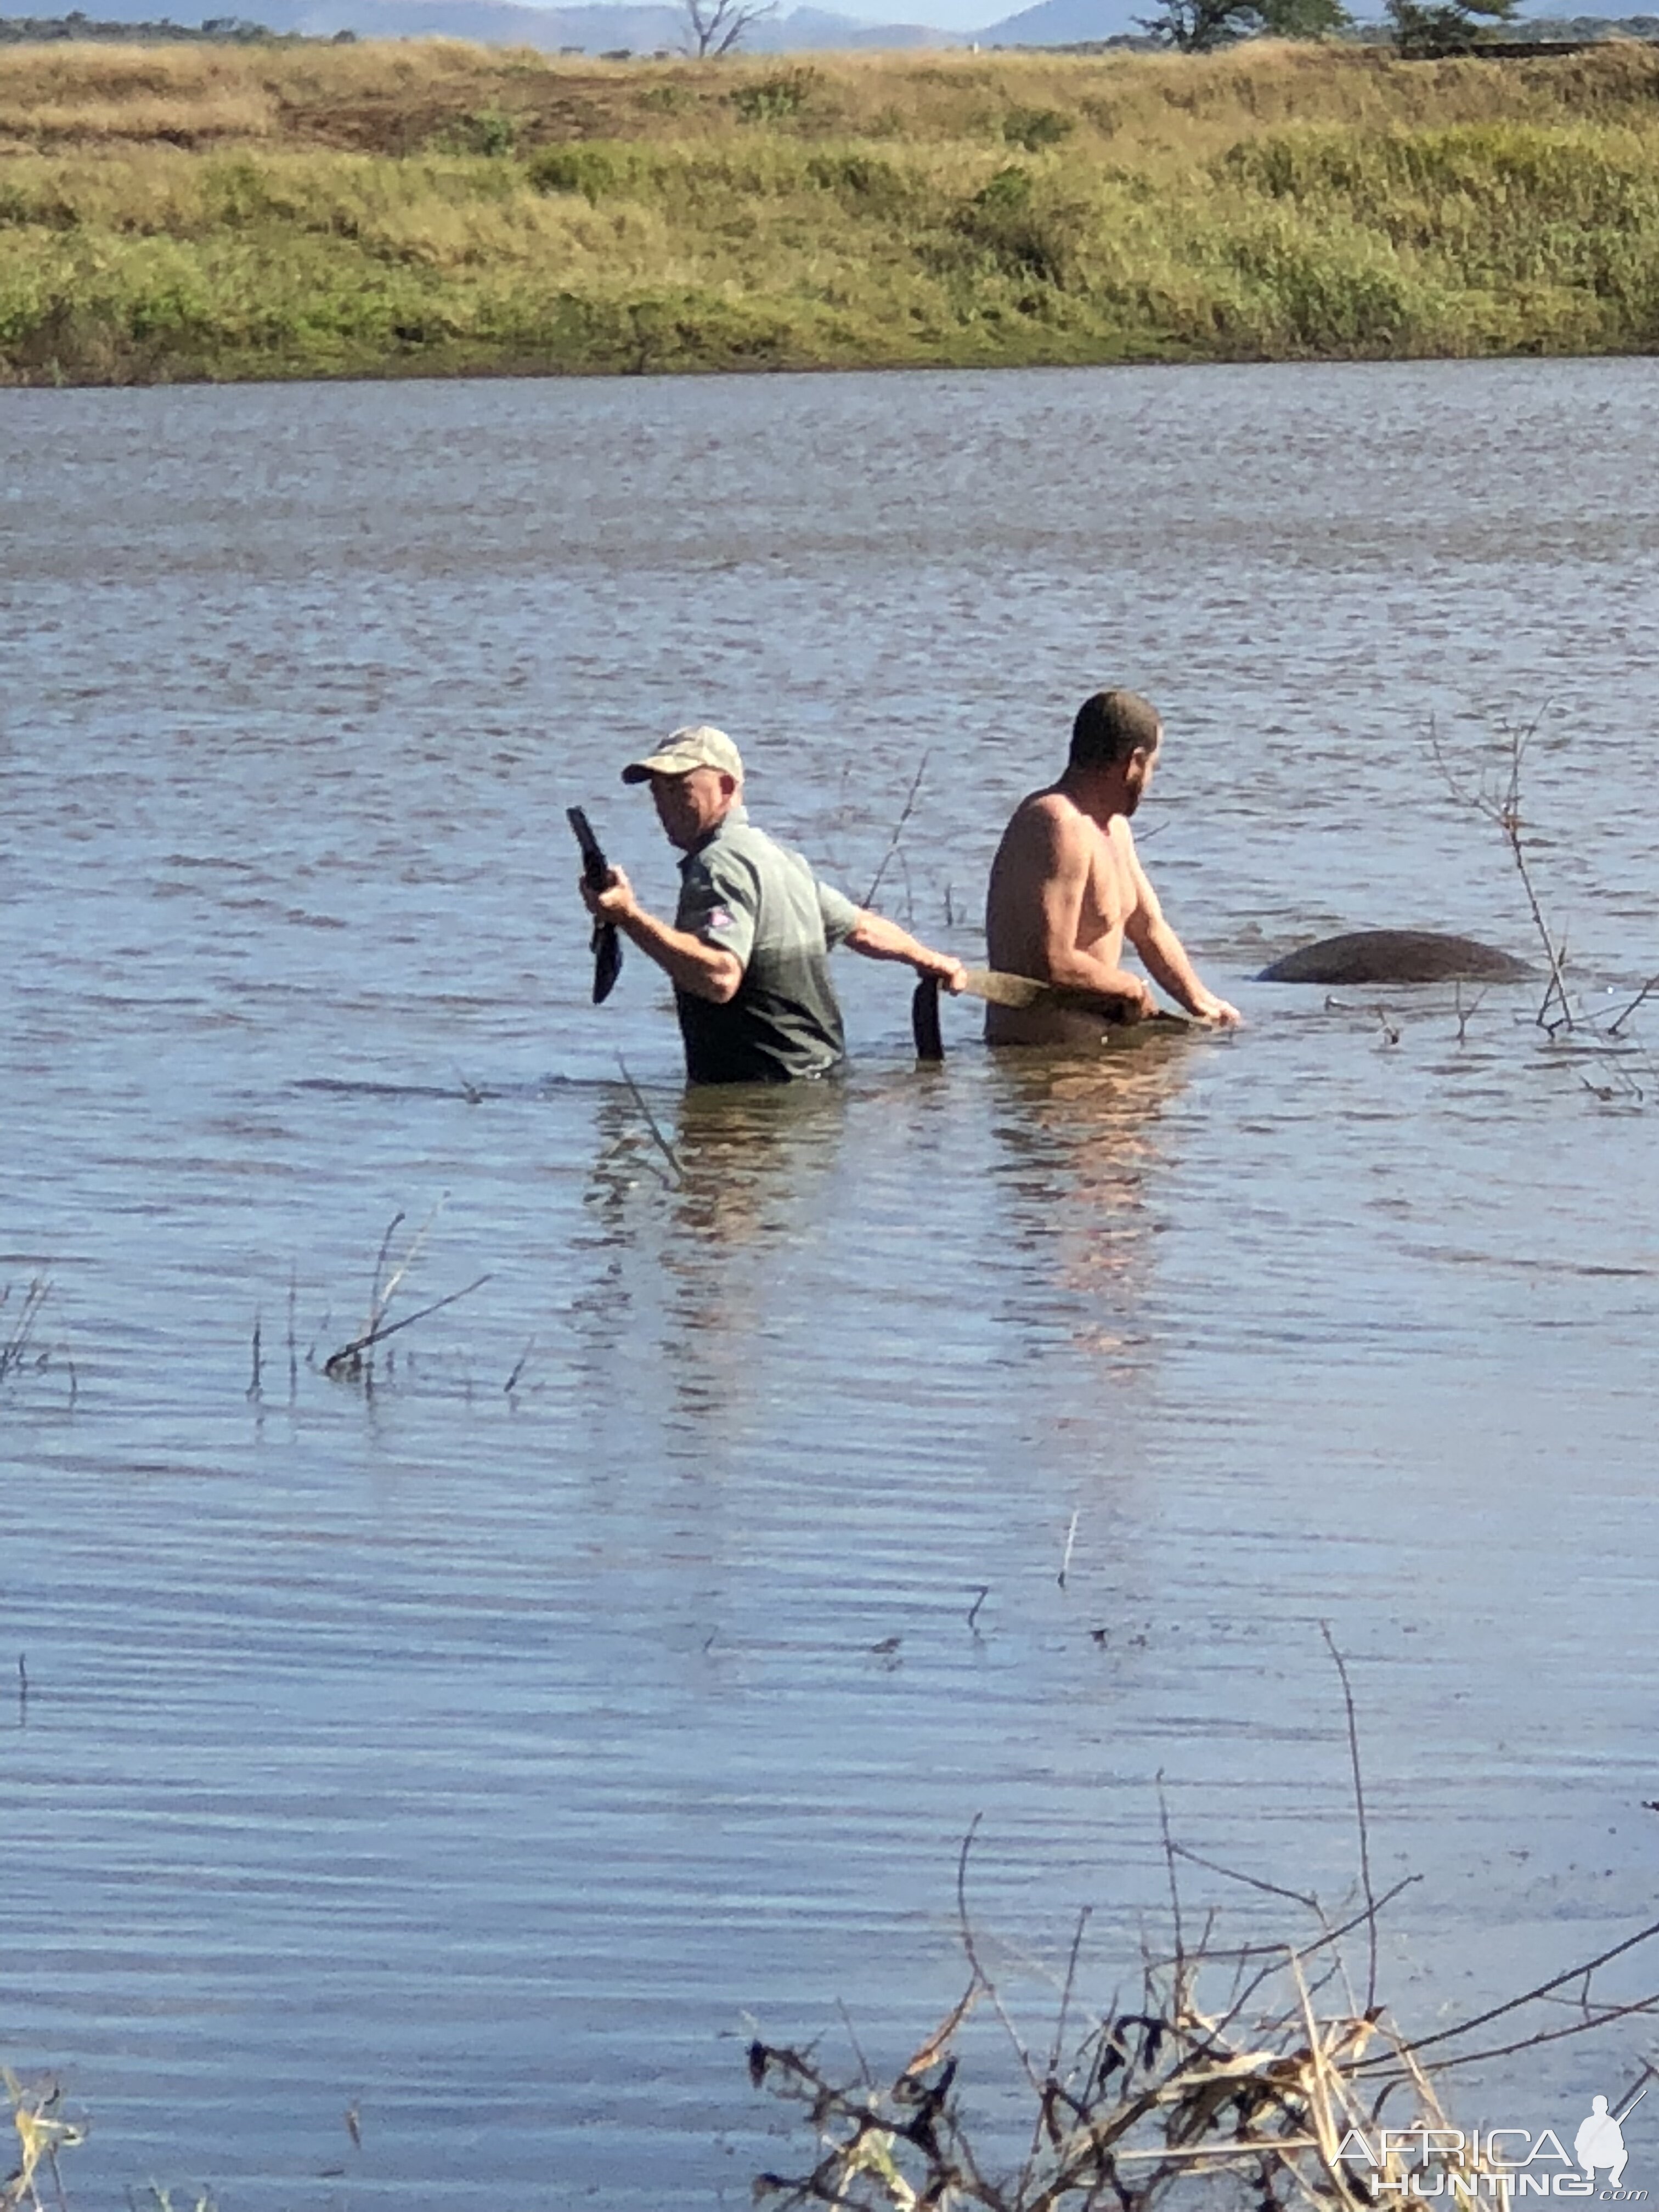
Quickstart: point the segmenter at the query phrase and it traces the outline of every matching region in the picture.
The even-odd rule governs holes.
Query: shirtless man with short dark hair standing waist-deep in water
[[[1099,991],[1119,1002],[1121,1020],[1139,1022],[1157,1000],[1124,969],[1128,938],[1188,1013],[1234,1024],[1239,1011],[1203,987],[1164,920],[1128,830],[1161,737],[1157,710],[1135,692],[1095,692],[1082,703],[1064,776],[1022,799],[1002,832],[984,905],[991,967]],[[1106,1026],[1108,1015],[1071,1006],[991,1006],[984,1035],[989,1044],[1099,1044]]]

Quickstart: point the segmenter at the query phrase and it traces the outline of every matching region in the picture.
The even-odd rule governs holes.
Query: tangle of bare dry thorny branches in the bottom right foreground
[[[1422,2177],[1429,2194],[1455,2192],[1464,2201],[1495,2174],[1473,2150],[1433,2148],[1436,2137],[1407,2132],[1400,2106],[1416,2115],[1411,2130],[1440,2130],[1440,2146],[1467,2137],[1449,2128],[1436,2077],[1473,2064],[1540,2048],[1564,2035],[1584,2035],[1635,2013],[1659,2011],[1659,1991],[1635,2004],[1595,2002],[1593,1975],[1617,1958],[1659,1938],[1659,1922],[1639,1929],[1504,2004],[1440,2028],[1407,2037],[1376,1997],[1378,1913],[1405,1885],[1376,1896],[1360,1767],[1358,1721],[1347,1663],[1329,1628],[1325,1644],[1336,1666],[1347,1723],[1354,1816],[1358,1827],[1358,1887],[1363,1907],[1332,1924],[1316,1898],[1259,1876],[1201,1858],[1175,1843],[1159,1790],[1159,1825],[1170,1878],[1177,1940],[1170,1958],[1141,1960],[1139,2000],[1095,2017],[1066,2048],[1088,1913],[1077,1920],[1046,2064],[1037,2073],[1026,2039],[1015,2031],[984,1964],[984,1947],[967,1900],[967,1876],[980,1816],[962,1840],[956,1869],[960,1942],[969,1989],[949,2017],[927,2037],[889,2088],[880,2088],[860,2055],[860,2073],[838,2086],[818,2055],[765,2042],[750,2044],[750,2077],[774,2095],[799,2101],[818,2139],[818,2159],[805,2174],[761,2174],[757,2199],[783,2205],[836,2205],[843,2212],[1150,2212],[1164,2197],[1192,2183],[1212,2197],[1217,2177],[1230,2179],[1239,2205],[1252,2212],[1360,2212],[1374,2205],[1371,2181],[1405,2194]],[[1181,1913],[1177,1860],[1210,1867],[1254,1891],[1310,1907],[1318,1933],[1301,1944],[1212,1944],[1210,1929],[1188,1931]],[[1363,1929],[1367,1944],[1365,2002],[1347,1993],[1347,2008],[1325,1993],[1345,1984],[1340,1942]],[[1250,1966],[1261,1960],[1254,1973]],[[1208,1982],[1230,1969],[1228,2002],[1201,1997]],[[1245,1980],[1248,1975],[1248,1980]],[[1471,2048],[1478,2031],[1517,2020],[1564,1989],[1579,1989],[1577,2017],[1544,2026],[1498,2048]],[[971,2141],[958,2095],[962,2055],[958,2035],[984,2000],[1002,2022],[1020,2073],[1035,2099],[1022,2163],[991,2174]],[[1425,2057],[1433,2053],[1433,2057]],[[1433,2068],[1433,2073],[1431,2073]],[[1646,2068],[1644,2068],[1646,2079]],[[1394,2104],[1391,2135],[1376,2137],[1378,2115]],[[1343,2146],[1349,2130],[1371,2130],[1385,2152],[1380,2172],[1354,2163]],[[1394,2143],[1394,2150],[1387,2150]],[[1405,2148],[1400,2148],[1405,2146]],[[1440,2181],[1433,2177],[1440,2174]],[[1498,2194],[1484,2183],[1482,2194]]]

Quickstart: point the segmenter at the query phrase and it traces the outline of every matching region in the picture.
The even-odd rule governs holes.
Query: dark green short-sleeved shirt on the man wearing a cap
[[[717,1006],[675,991],[686,1075],[695,1084],[787,1084],[827,1075],[847,1055],[830,982],[830,947],[858,907],[818,883],[799,852],[750,825],[737,805],[679,863],[675,927],[737,953],[743,982]]]

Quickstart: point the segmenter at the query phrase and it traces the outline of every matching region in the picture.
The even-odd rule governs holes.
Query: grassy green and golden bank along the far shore
[[[0,380],[1659,347],[1659,49],[0,55]]]

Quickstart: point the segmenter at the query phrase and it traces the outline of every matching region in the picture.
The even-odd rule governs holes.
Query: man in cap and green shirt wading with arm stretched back
[[[781,1084],[834,1073],[847,1053],[830,947],[905,960],[960,989],[962,962],[818,883],[799,852],[757,830],[743,761],[723,730],[697,723],[622,770],[648,783],[679,863],[672,925],[648,914],[619,867],[588,911],[648,953],[675,987],[686,1075],[695,1084]]]

